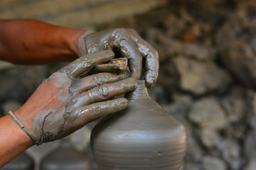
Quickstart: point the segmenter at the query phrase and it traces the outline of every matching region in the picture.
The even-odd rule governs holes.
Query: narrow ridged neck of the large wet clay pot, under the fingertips
[[[145,80],[138,80],[137,88],[134,91],[127,94],[127,98],[129,101],[136,100],[137,98],[149,98]]]

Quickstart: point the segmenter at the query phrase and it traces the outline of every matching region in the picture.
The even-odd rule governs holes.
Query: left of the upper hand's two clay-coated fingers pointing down
[[[113,45],[129,60],[131,77],[140,79],[142,76],[142,55],[126,30],[122,28],[114,30]]]

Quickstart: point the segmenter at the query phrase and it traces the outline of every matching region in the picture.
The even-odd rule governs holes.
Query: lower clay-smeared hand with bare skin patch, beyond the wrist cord
[[[109,62],[114,52],[87,54],[43,81],[16,117],[39,144],[58,140],[85,124],[127,107],[126,98],[105,101],[132,91],[137,80],[126,74],[98,73],[80,79],[97,64]]]

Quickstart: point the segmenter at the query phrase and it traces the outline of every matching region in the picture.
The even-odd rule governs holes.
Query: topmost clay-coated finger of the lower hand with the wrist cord
[[[97,64],[108,62],[112,58],[114,58],[114,52],[111,50],[90,53],[71,62],[63,69],[60,69],[60,72],[65,72],[71,77],[78,77],[80,74],[87,74],[87,72],[90,72],[92,67],[95,67]]]

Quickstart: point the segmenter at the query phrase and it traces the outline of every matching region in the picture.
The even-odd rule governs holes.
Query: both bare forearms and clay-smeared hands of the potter
[[[107,49],[117,50],[127,58],[135,79],[142,77],[145,59],[146,85],[155,84],[159,68],[157,52],[134,30],[118,28],[92,33],[41,21],[0,19],[0,60],[50,64],[80,57],[43,81],[31,98],[14,111],[38,143],[57,140],[127,106],[125,98],[110,100],[136,88],[135,79],[126,79],[127,72],[92,74],[80,79],[80,75],[96,65],[105,69],[105,64],[114,58]],[[110,65],[107,69],[111,69]],[[32,145],[31,138],[10,115],[0,118],[0,168]]]

